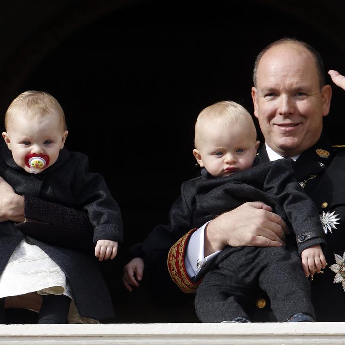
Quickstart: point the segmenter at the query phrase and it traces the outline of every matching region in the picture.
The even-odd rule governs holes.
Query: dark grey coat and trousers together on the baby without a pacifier
[[[279,159],[223,178],[213,178],[203,170],[202,177],[189,186],[196,202],[193,219],[204,214],[206,221],[207,214],[214,218],[244,202],[262,201],[290,225],[296,237],[289,235],[286,248],[227,246],[222,250],[196,292],[195,306],[202,322],[248,318],[243,307],[252,302],[258,286],[267,292],[278,322],[296,313],[315,318],[296,242],[301,254],[315,244],[324,247],[326,241],[317,209],[296,181],[293,164]]]

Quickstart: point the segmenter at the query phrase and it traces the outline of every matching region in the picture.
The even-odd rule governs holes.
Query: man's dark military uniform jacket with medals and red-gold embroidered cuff
[[[269,161],[265,147],[260,149],[258,157],[259,163]],[[321,221],[327,230],[326,261],[328,266],[323,270],[323,274],[314,275],[312,282],[312,302],[316,320],[345,321],[343,311],[345,292],[342,286],[345,273],[342,272],[341,259],[337,257],[338,263],[335,261],[335,254],[343,257],[345,252],[345,148],[332,146],[330,141],[322,135],[313,147],[300,155],[293,168],[296,179],[314,201],[320,216],[323,216]],[[170,275],[173,281],[186,292],[195,290],[202,280],[202,276],[197,276],[192,281],[184,267],[186,247],[193,231],[195,230],[178,240],[168,255]],[[330,266],[334,271],[330,269]],[[337,270],[338,274],[335,272]],[[339,283],[334,282],[335,277]]]

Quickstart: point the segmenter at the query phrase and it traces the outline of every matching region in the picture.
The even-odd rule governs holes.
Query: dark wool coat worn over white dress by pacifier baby
[[[17,194],[85,210],[94,227],[94,243],[99,239],[122,241],[119,207],[111,197],[104,179],[99,174],[88,171],[88,159],[85,155],[63,149],[52,166],[41,173],[31,174],[18,167],[8,148],[2,146],[0,176]],[[10,221],[0,223],[0,272],[23,238],[24,234],[19,229],[25,226],[25,223],[21,223],[16,227],[14,222]],[[35,227],[32,224],[27,226]],[[94,319],[113,317],[109,292],[99,272],[97,259],[92,253],[48,244],[38,240],[38,237],[28,238],[46,252],[65,273],[80,315]]]

